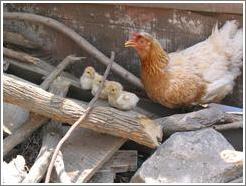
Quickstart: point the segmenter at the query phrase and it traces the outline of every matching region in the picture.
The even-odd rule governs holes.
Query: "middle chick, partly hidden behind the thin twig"
[[[99,89],[100,85],[102,84],[102,80],[103,80],[103,76],[101,76],[100,74],[95,74],[95,77],[94,77],[93,82],[92,82],[92,89],[91,89],[92,95],[94,95],[94,96],[96,95],[97,90]],[[107,83],[108,83],[108,81],[105,80],[101,94],[99,95],[99,98],[101,98],[101,99],[108,99],[108,94],[105,91],[105,86]]]

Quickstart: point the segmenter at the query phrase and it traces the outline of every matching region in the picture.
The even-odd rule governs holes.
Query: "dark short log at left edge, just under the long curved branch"
[[[3,41],[30,49],[40,48],[40,46],[26,39],[22,34],[15,33],[15,32],[3,31]]]

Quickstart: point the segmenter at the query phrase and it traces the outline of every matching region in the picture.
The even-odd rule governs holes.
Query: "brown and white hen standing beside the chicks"
[[[134,33],[133,47],[141,61],[141,80],[148,96],[169,108],[219,102],[231,93],[240,75],[243,32],[236,21],[187,49],[167,54],[147,33]]]

